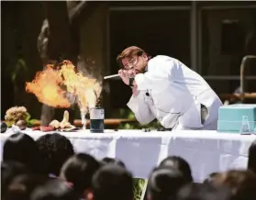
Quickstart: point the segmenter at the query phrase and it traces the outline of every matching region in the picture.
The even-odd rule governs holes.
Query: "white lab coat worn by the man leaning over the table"
[[[164,128],[217,129],[222,103],[198,73],[168,56],[150,59],[147,68],[147,72],[135,76],[139,94],[128,102],[140,124],[157,118]],[[208,109],[204,124],[201,105]]]

